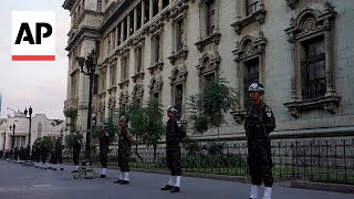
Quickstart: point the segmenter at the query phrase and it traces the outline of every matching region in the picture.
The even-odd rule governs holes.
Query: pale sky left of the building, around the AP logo
[[[0,7],[0,92],[1,115],[13,114],[12,108],[23,112],[32,106],[33,114],[48,118],[64,118],[66,98],[67,43],[70,12],[62,8],[64,0],[2,0]],[[11,11],[54,11],[55,61],[11,61]]]

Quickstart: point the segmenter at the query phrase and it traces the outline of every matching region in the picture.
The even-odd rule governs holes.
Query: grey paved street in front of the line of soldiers
[[[183,191],[160,191],[167,176],[132,172],[131,185],[115,185],[116,170],[108,169],[106,179],[77,180],[71,176],[72,166],[63,171],[23,167],[0,161],[0,199],[247,199],[249,185],[204,178],[183,178]],[[354,195],[302,190],[274,186],[273,199],[353,199]]]

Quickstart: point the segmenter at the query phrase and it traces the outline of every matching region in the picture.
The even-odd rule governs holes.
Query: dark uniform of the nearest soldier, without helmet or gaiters
[[[268,134],[275,128],[275,118],[262,101],[248,108],[244,129],[248,140],[248,166],[252,185],[272,187],[271,144]]]

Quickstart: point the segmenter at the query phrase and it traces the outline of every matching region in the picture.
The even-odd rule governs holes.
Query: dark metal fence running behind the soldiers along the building
[[[272,142],[271,150],[274,177],[354,185],[354,138]],[[184,143],[181,151],[184,171],[248,175],[246,142]],[[97,150],[92,158],[100,160]],[[111,147],[108,165],[117,166],[116,146]],[[152,146],[133,146],[131,166],[167,169],[165,145],[158,145],[156,150]]]

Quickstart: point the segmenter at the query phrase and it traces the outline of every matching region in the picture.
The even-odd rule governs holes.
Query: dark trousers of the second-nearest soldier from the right
[[[170,170],[171,176],[181,175],[180,166],[180,148],[179,146],[173,146],[166,148],[167,167]]]

